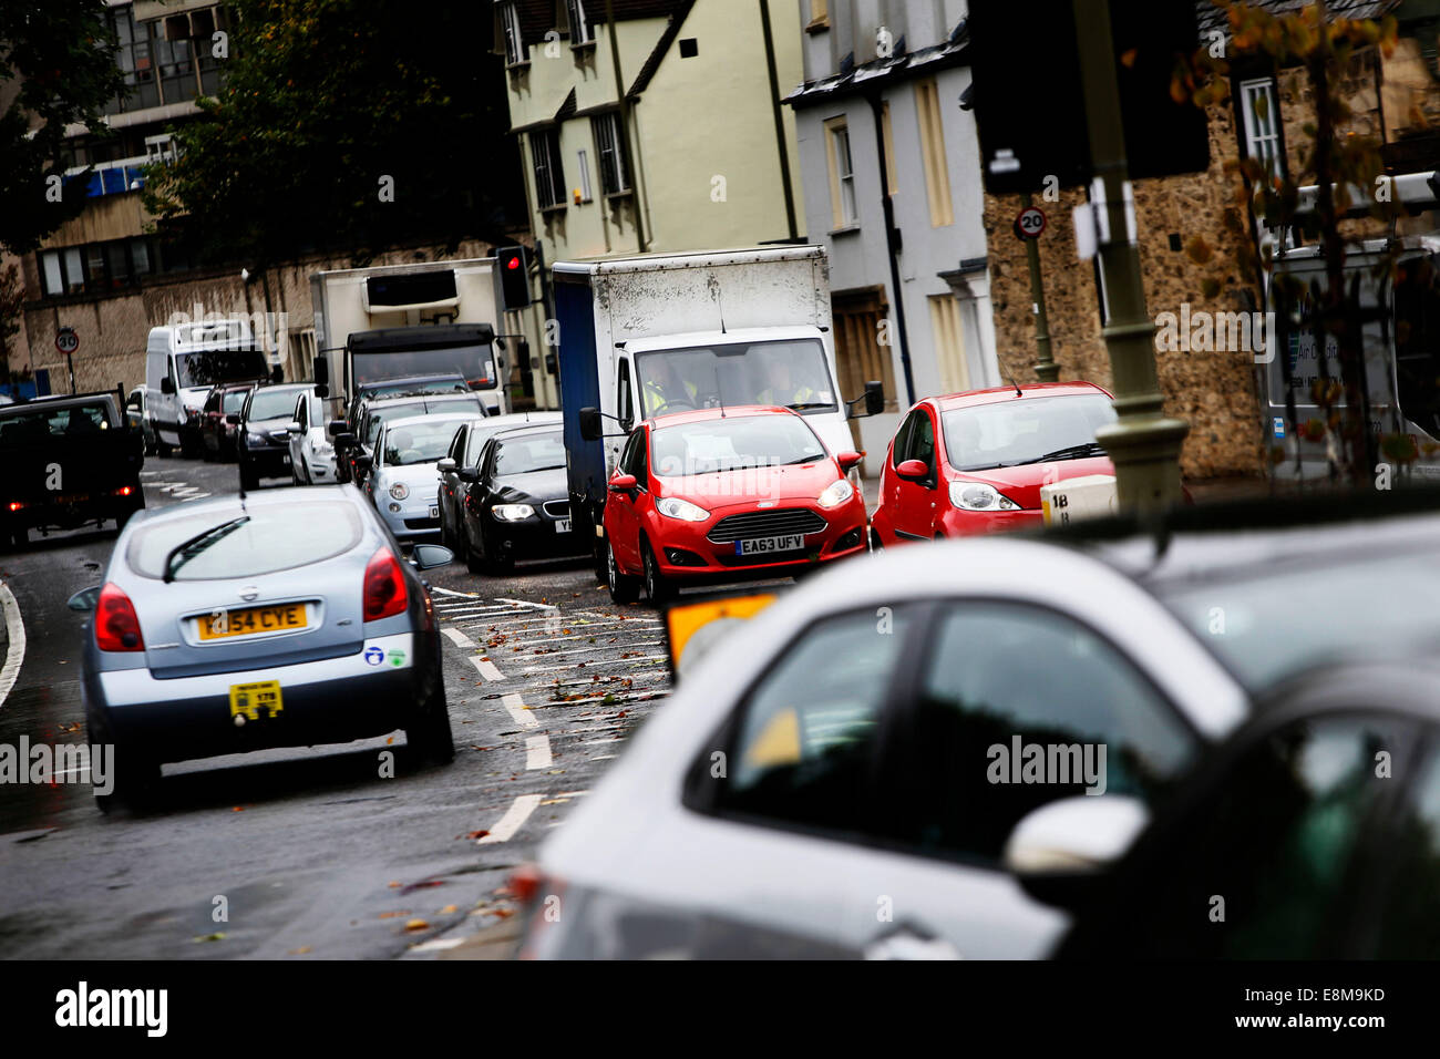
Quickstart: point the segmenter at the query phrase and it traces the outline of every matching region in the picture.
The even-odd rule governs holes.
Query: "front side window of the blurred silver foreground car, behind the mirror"
[[[891,837],[998,863],[1015,824],[1086,791],[1162,800],[1195,756],[1166,700],[1097,634],[1054,611],[948,604],[894,774]]]

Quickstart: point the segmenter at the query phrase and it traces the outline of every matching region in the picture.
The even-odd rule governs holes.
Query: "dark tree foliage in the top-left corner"
[[[48,202],[46,177],[63,174],[66,124],[98,127],[121,88],[101,0],[0,3],[0,245],[24,254],[79,215],[84,196]]]

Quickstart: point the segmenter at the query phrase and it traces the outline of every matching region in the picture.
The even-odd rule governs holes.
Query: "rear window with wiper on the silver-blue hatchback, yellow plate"
[[[147,578],[164,576],[173,548],[212,526],[239,517],[202,511],[184,519],[141,523],[125,550],[130,568]],[[360,542],[360,516],[348,503],[288,501],[252,506],[249,522],[235,527],[176,571],[176,581],[251,578],[334,558]]]

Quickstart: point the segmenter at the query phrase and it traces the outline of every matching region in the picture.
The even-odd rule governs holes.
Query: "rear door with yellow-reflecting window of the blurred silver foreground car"
[[[850,877],[874,856],[870,777],[917,618],[907,605],[816,618],[706,738],[684,784],[690,811],[645,853],[657,886],[645,915],[660,928],[648,934],[683,938],[674,948],[694,958],[855,955]]]

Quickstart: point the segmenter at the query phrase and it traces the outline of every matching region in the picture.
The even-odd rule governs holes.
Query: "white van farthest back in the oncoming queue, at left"
[[[171,448],[199,455],[200,409],[210,388],[264,379],[269,372],[249,320],[151,327],[145,343],[147,416],[160,455]]]

